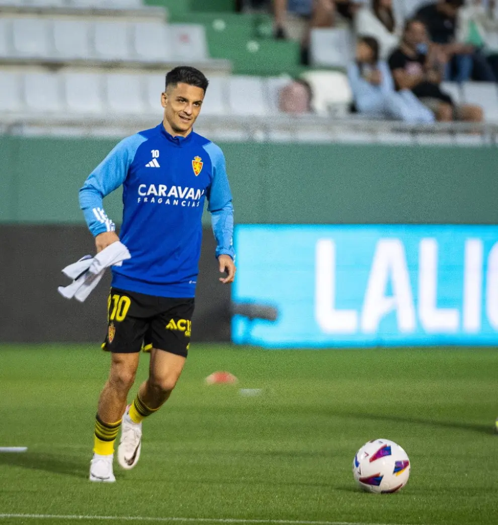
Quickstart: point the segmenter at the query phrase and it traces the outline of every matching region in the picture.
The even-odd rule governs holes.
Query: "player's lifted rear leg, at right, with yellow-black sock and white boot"
[[[142,450],[142,421],[156,412],[169,398],[180,377],[185,358],[153,348],[150,352],[149,378],[138,389],[133,403],[123,416],[118,463],[133,468]]]

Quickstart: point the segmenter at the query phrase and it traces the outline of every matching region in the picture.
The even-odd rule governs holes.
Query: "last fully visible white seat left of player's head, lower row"
[[[145,110],[142,77],[138,75],[105,75],[106,106],[111,113],[142,114]]]

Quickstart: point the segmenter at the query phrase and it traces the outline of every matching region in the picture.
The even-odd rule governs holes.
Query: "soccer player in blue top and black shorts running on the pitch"
[[[235,276],[232,195],[221,149],[192,130],[208,80],[177,67],[161,93],[164,120],[122,140],[80,190],[80,206],[97,251],[121,240],[131,259],[113,267],[104,350],[111,371],[95,420],[91,481],[115,481],[114,440],[121,427],[118,463],[133,468],[140,457],[142,421],[174,389],[189,349],[204,199],[211,212],[222,283]],[[102,198],[123,185],[120,237]],[[139,352],[150,349],[147,381],[131,405],[127,395]]]

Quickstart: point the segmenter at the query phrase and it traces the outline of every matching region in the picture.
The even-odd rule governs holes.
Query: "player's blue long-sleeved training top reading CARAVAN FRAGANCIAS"
[[[121,184],[120,239],[132,258],[112,268],[112,286],[153,296],[194,297],[205,197],[216,257],[235,258],[232,194],[216,144],[193,131],[173,137],[162,122],[123,139],[80,190],[80,207],[93,235],[115,230],[102,198]]]

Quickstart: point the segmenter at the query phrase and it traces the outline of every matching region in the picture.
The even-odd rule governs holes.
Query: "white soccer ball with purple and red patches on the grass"
[[[354,456],[353,476],[358,486],[368,492],[396,492],[408,482],[410,460],[394,441],[374,439]]]

